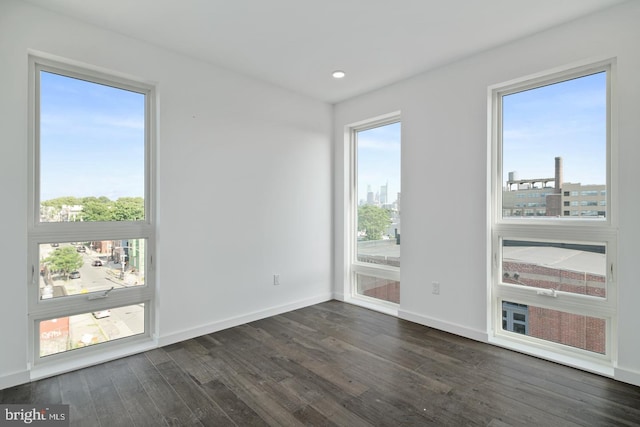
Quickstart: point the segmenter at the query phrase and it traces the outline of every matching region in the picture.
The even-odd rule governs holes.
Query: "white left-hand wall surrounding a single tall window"
[[[0,389],[29,379],[28,49],[157,84],[161,344],[331,298],[330,105],[3,0]]]

